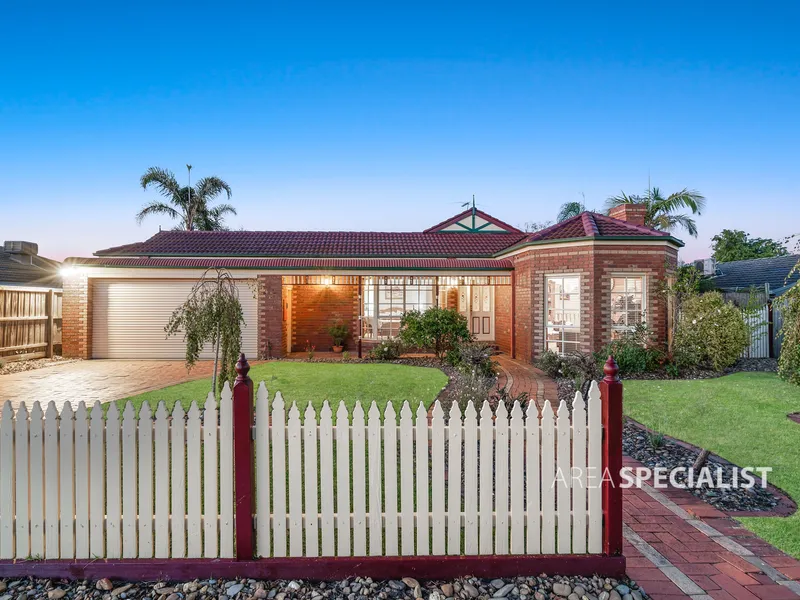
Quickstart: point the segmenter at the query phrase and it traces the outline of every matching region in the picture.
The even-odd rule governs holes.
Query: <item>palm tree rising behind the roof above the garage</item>
[[[186,165],[191,173],[191,166]],[[145,217],[150,215],[167,215],[180,221],[176,227],[186,231],[223,231],[225,216],[236,214],[236,209],[230,204],[210,206],[210,203],[222,193],[230,199],[231,188],[219,177],[203,177],[194,187],[183,186],[175,179],[175,174],[169,169],[150,167],[145,171],[140,180],[142,189],[155,186],[158,193],[166,201],[153,200],[146,204],[136,214],[136,222],[141,224]]]

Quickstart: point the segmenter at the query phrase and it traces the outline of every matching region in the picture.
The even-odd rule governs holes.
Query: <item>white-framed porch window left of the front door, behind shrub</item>
[[[400,332],[404,312],[433,306],[433,285],[409,283],[402,278],[364,277],[361,298],[362,337],[385,340]]]

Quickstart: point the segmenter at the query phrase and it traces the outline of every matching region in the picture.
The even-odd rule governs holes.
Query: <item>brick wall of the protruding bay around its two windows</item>
[[[548,275],[580,277],[582,352],[598,350],[611,339],[611,276],[618,273],[645,277],[647,323],[659,341],[666,339],[666,306],[658,290],[677,264],[675,249],[636,244],[542,247],[519,254],[513,260],[517,358],[533,361],[544,350]]]

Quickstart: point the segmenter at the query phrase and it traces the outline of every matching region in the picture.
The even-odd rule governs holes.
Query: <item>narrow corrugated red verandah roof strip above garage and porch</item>
[[[506,259],[460,258],[68,258],[65,264],[101,267],[208,268],[228,269],[414,269],[431,271],[508,271]]]

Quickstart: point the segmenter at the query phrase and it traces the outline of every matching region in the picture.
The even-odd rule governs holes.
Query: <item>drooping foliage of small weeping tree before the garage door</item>
[[[234,372],[242,346],[244,314],[239,291],[225,269],[207,269],[164,328],[167,337],[183,333],[186,366],[191,369],[206,344],[214,348],[211,391],[220,391]],[[217,372],[219,371],[219,377]]]

